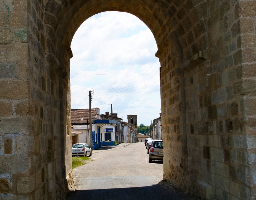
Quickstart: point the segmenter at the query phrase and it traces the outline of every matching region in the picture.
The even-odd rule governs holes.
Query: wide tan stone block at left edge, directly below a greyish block
[[[29,98],[28,81],[0,81],[0,99]]]

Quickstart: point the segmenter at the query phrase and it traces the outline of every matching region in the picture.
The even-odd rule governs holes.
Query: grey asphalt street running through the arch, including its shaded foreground
[[[144,143],[95,151],[93,162],[74,169],[76,191],[67,200],[190,199],[162,182],[163,162],[148,163]]]

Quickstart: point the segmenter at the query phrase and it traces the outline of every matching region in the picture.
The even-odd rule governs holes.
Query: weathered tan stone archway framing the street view
[[[0,199],[63,199],[73,184],[70,44],[90,16],[121,11],[160,59],[163,178],[202,199],[256,198],[256,2],[4,0]]]

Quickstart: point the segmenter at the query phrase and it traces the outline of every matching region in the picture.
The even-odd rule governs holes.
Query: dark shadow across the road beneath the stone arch
[[[192,200],[187,194],[167,188],[163,184],[146,187],[112,188],[101,190],[76,190],[67,194],[66,200]]]

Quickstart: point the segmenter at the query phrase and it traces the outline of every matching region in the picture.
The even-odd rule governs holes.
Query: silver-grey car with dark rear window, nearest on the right
[[[153,140],[149,149],[148,162],[163,160],[163,140]]]

